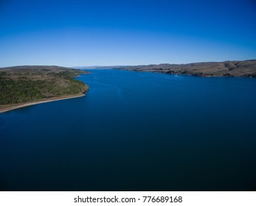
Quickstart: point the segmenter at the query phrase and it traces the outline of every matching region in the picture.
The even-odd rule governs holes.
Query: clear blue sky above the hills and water
[[[255,58],[255,0],[0,0],[0,67]]]

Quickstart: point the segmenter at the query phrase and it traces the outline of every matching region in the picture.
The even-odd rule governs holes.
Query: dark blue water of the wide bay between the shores
[[[92,70],[0,114],[1,191],[256,191],[256,79]]]

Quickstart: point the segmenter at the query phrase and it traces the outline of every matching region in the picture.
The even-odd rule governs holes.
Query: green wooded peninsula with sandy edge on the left
[[[32,104],[85,96],[88,85],[74,77],[87,73],[45,65],[0,68],[0,113]]]

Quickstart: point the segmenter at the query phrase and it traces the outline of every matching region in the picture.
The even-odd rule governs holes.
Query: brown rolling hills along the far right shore
[[[114,69],[187,74],[196,77],[256,77],[256,60],[188,64],[115,66]]]

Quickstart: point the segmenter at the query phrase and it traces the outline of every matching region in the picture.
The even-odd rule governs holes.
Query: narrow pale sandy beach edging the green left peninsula
[[[28,106],[35,105],[35,104],[55,102],[55,101],[64,100],[64,99],[74,99],[74,98],[78,98],[78,97],[82,97],[82,96],[86,96],[86,95],[84,93],[82,93],[79,95],[72,95],[72,96],[52,97],[49,100],[44,100],[44,101],[40,101],[40,102],[29,102],[29,103],[25,103],[25,104],[13,105],[13,106],[7,107],[7,108],[0,108],[0,113],[5,113],[10,110],[16,110],[16,109],[19,109],[22,107],[28,107]]]

